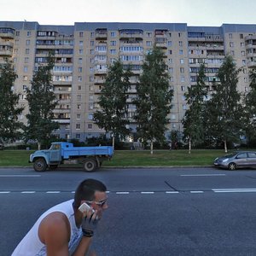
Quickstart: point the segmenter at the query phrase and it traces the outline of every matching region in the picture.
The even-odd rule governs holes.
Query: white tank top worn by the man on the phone
[[[68,252],[73,253],[74,249],[79,243],[82,237],[82,230],[78,229],[75,223],[73,212],[73,200],[64,201],[55,207],[51,207],[47,212],[44,212],[37,222],[32,226],[32,229],[28,231],[26,236],[20,241],[19,245],[15,248],[12,256],[44,256],[46,254],[46,247],[38,237],[38,226],[42,219],[51,212],[63,212],[70,224],[70,240],[68,242]]]

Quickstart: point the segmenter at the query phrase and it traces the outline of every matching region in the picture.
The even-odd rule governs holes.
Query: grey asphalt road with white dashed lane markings
[[[0,255],[10,255],[38,216],[73,198],[87,177],[108,186],[98,256],[256,255],[256,171],[212,168],[1,168]]]

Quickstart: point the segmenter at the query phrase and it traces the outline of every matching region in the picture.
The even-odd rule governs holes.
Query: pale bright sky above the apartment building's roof
[[[253,0],[1,0],[0,20],[187,23],[188,26],[256,24]]]

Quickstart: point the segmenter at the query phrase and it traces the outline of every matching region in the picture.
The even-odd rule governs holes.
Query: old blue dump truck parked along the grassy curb
[[[36,172],[55,170],[61,164],[83,164],[85,172],[93,172],[102,166],[103,160],[113,156],[111,146],[73,147],[73,143],[51,143],[47,150],[38,150],[30,155]]]

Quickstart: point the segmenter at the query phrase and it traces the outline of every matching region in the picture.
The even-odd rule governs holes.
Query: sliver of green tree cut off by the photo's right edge
[[[249,73],[250,90],[245,96],[245,130],[248,143],[256,142],[256,69]]]

